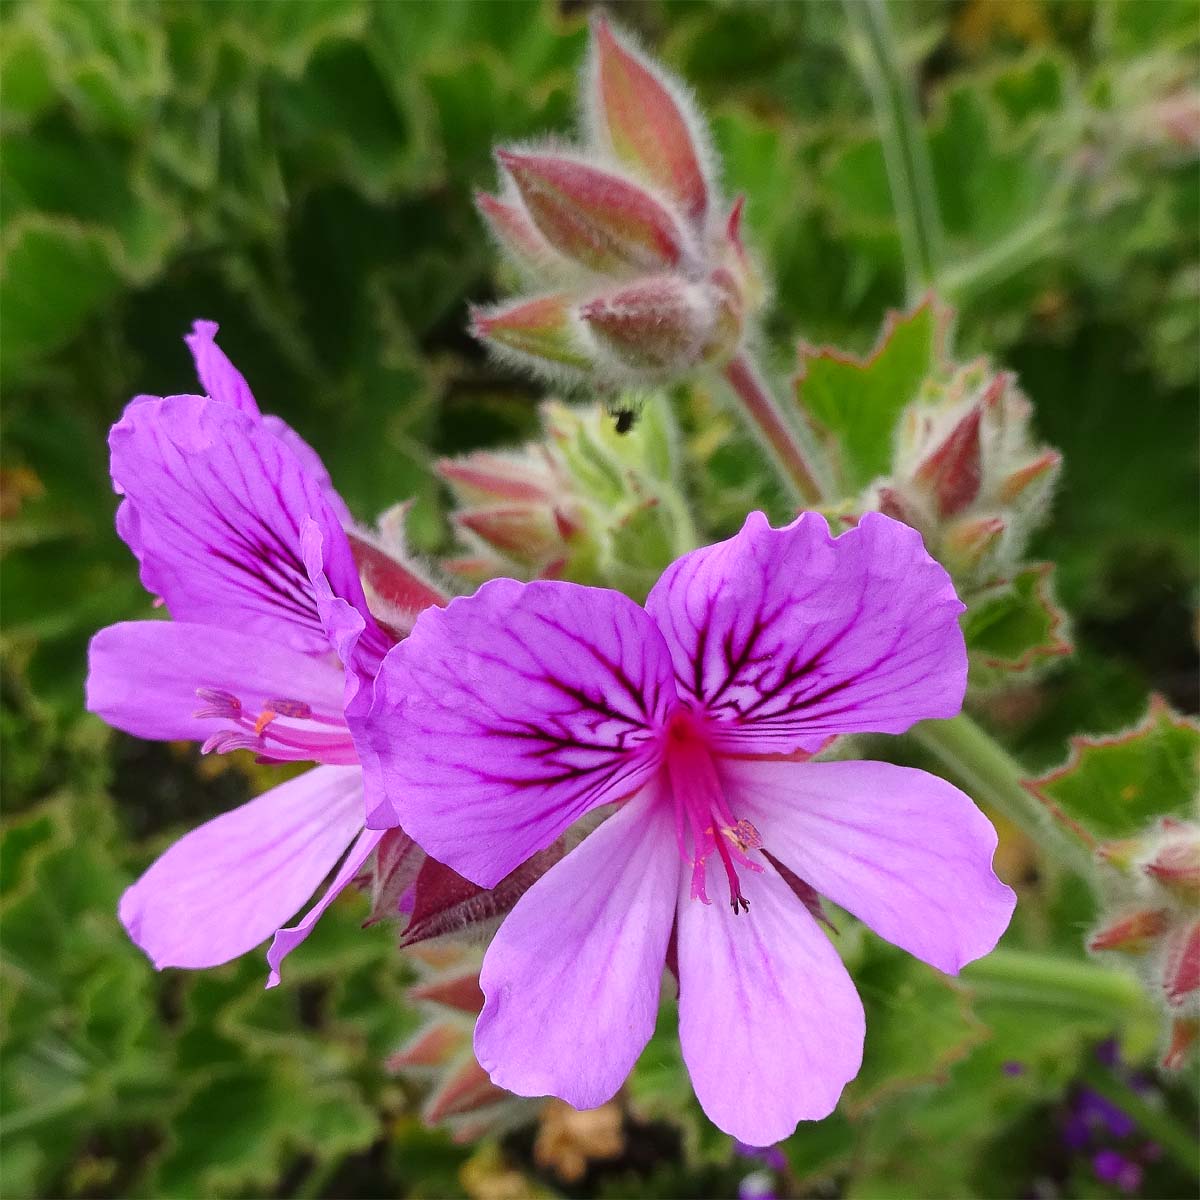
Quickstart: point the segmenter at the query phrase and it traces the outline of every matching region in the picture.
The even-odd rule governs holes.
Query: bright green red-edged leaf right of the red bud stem
[[[866,358],[802,346],[797,400],[838,452],[844,494],[887,474],[900,413],[941,370],[947,322],[946,310],[930,299],[890,314]]]

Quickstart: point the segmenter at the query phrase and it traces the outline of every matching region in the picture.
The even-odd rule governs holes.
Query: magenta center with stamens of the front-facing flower
[[[749,912],[738,869],[761,871],[750,853],[762,848],[758,830],[739,820],[725,797],[708,749],[703,718],[691,709],[671,716],[664,731],[664,752],[674,803],[676,841],[684,862],[691,864],[691,898],[712,904],[706,889],[708,863],[715,856],[730,887],[730,907]]]

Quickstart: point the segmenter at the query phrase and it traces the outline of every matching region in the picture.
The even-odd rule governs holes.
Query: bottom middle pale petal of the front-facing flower
[[[750,911],[679,890],[679,1044],[701,1108],[752,1146],[838,1104],[863,1061],[863,1004],[833,944],[768,865]]]

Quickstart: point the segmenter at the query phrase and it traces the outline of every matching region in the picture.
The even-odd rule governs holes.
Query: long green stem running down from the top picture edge
[[[884,0],[844,0],[844,4],[854,35],[852,54],[871,94],[880,126],[908,295],[916,299],[937,282],[943,253],[942,217],[925,130],[914,89],[896,53]]]

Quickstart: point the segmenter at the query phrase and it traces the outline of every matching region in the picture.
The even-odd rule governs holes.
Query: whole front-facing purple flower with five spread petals
[[[818,896],[946,972],[995,946],[1014,896],[972,802],[920,770],[810,761],[838,734],[954,715],[961,611],[896,521],[834,539],[816,514],[751,514],[644,607],[497,580],[418,618],[361,722],[376,820],[490,887],[613,806],[487,950],[475,1054],[496,1084],[610,1099],[670,961],[701,1105],[768,1145],[827,1115],[862,1061]]]

